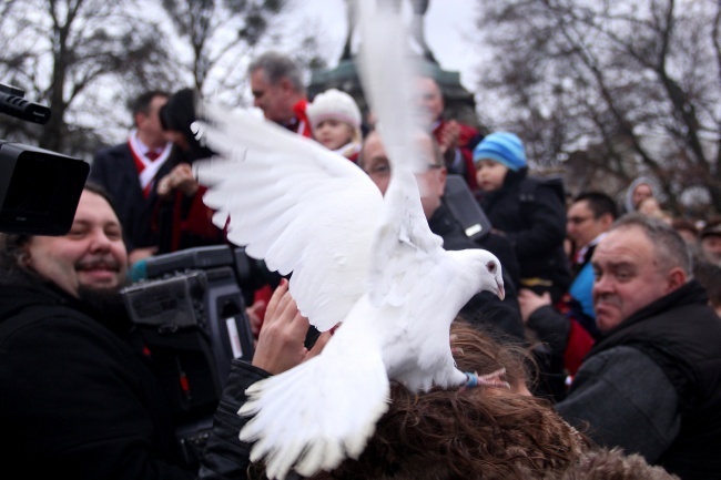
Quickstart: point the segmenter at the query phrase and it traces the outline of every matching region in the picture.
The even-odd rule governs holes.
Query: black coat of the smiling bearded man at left
[[[52,287],[0,282],[0,458],[22,478],[195,477],[126,318],[112,317]]]

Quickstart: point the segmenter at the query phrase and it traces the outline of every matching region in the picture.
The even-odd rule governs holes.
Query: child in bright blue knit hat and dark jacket
[[[524,143],[510,132],[487,135],[474,150],[474,164],[480,205],[514,245],[519,288],[549,292],[558,302],[570,285],[562,188],[528,175]]]

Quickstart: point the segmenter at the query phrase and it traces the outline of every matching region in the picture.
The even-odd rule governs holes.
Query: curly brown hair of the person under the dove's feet
[[[501,368],[510,385],[526,381],[526,353],[500,345],[456,321],[451,347],[458,368]],[[322,479],[529,479],[563,471],[588,441],[547,400],[502,387],[412,394],[392,386],[392,404],[357,460],[346,459]]]

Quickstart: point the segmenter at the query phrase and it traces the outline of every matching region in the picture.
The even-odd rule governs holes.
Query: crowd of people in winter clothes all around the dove
[[[337,152],[385,193],[383,139],[349,94],[311,101],[299,68],[277,52],[247,73],[268,121]],[[429,227],[445,248],[485,248],[504,266],[505,298],[471,298],[451,349],[464,370],[505,371],[506,387],[416,395],[395,385],[364,453],[313,478],[719,478],[721,216],[673,218],[648,177],[621,203],[600,191],[569,198],[558,178],[530,174],[522,132],[483,136],[444,116],[436,80],[417,81]],[[308,341],[285,279],[258,288],[253,361],[232,361],[204,455],[183,459],[120,289],[154,255],[229,243],[192,174],[213,155],[191,131],[197,100],[192,89],[138,98],[128,141],[95,155],[67,235],[0,234],[0,418],[14,433],[2,455],[21,460],[23,477],[263,478],[238,439],[245,389],[332,337]],[[445,197],[454,174],[492,225],[479,238]]]

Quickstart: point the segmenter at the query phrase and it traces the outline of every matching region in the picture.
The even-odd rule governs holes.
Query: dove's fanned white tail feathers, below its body
[[[387,409],[380,349],[342,336],[344,328],[318,357],[247,389],[238,415],[254,417],[240,437],[255,441],[251,460],[264,458],[271,479],[283,479],[291,469],[309,477],[345,457],[357,458]]]

